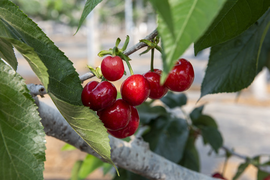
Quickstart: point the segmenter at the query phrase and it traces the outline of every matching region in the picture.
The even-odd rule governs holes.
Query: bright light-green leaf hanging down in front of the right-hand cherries
[[[168,0],[173,19],[175,36],[172,35],[166,19],[158,16],[158,32],[161,36],[164,54],[161,83],[176,60],[185,49],[196,41],[217,15],[225,0]]]

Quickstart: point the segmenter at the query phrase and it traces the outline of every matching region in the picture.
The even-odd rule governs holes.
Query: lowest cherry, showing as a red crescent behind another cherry
[[[131,115],[130,115],[130,120],[129,123],[127,124],[126,127],[120,129],[120,130],[108,130],[108,132],[117,138],[125,138],[128,137],[130,135],[133,135],[136,130],[139,127],[139,123],[140,123],[140,117],[138,114],[138,110],[136,107],[134,106],[130,106],[131,107]]]

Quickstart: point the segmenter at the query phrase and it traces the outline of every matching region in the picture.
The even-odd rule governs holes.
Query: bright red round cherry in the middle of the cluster
[[[134,74],[124,80],[120,92],[122,98],[130,105],[140,105],[150,93],[150,84],[143,75]]]

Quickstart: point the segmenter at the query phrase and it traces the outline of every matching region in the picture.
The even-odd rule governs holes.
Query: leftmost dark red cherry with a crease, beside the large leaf
[[[102,110],[110,106],[117,96],[115,86],[109,81],[90,81],[82,91],[82,102],[93,110]]]

